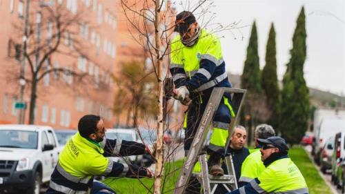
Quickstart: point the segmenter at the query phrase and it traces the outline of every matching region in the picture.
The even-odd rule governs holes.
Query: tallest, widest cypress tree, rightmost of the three
[[[290,55],[283,79],[280,128],[289,144],[298,144],[308,128],[309,113],[308,87],[303,72],[306,60],[306,21],[303,7],[297,18]]]

